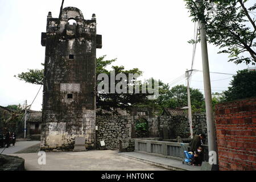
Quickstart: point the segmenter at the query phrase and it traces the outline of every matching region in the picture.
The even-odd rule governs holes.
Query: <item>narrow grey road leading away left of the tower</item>
[[[40,143],[40,141],[22,141],[22,142],[16,142],[15,146],[11,144],[10,147],[5,148],[2,154],[9,155],[14,154],[15,152],[18,152],[20,150],[23,150],[24,148],[34,146],[35,144]],[[0,148],[0,153],[2,152],[3,148]]]

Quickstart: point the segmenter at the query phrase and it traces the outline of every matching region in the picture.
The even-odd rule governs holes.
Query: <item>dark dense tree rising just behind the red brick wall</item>
[[[233,76],[228,90],[224,91],[224,101],[233,101],[256,96],[256,71],[243,69]]]

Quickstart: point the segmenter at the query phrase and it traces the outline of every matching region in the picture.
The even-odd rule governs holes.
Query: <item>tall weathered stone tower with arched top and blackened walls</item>
[[[48,13],[46,27],[41,150],[73,150],[76,137],[94,148],[96,48],[101,48],[96,16],[85,20],[76,7],[65,7],[59,24]]]

